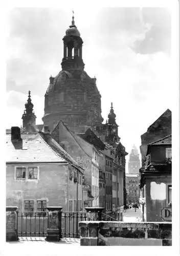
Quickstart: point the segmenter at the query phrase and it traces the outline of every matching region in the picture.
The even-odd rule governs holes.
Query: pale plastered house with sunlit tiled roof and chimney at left
[[[49,133],[6,131],[6,204],[19,211],[46,211],[47,206],[60,205],[71,210],[77,200],[77,183],[72,173],[79,173],[78,200],[83,208],[83,168],[64,159],[50,146]],[[82,209],[81,209],[82,210]]]

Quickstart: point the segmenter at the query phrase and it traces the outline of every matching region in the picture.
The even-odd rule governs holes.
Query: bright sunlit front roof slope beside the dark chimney
[[[11,130],[6,131],[6,162],[64,162],[42,139],[39,133],[22,133],[20,141],[11,141]]]

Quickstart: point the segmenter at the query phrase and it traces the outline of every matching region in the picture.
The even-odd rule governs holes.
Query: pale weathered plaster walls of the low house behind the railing
[[[38,180],[16,180],[15,166],[39,167]],[[69,184],[69,186],[68,186]],[[80,186],[80,185],[79,185]],[[6,168],[6,204],[24,210],[24,200],[46,200],[47,206],[61,206],[68,210],[68,201],[76,199],[77,185],[69,180],[68,166],[61,164],[7,164]],[[79,188],[82,200],[82,186]]]

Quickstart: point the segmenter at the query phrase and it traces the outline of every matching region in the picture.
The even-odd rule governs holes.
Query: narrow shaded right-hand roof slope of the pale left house
[[[80,164],[78,164],[54,139],[51,140],[51,147],[67,161],[71,162],[78,168],[83,169],[83,167]]]

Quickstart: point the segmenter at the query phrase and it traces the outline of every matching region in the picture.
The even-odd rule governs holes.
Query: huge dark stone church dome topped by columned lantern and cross
[[[44,102],[43,124],[52,132],[62,120],[75,133],[84,133],[88,128],[99,126],[101,116],[101,95],[96,78],[84,71],[82,59],[83,41],[75,22],[65,31],[63,37],[62,70],[50,77]]]

